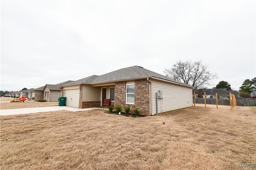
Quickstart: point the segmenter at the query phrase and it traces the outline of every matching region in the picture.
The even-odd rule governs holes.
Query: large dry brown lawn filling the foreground
[[[256,107],[148,117],[103,110],[0,116],[1,170],[236,170],[256,163]]]

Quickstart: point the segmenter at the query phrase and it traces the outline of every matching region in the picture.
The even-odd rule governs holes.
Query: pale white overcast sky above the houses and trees
[[[0,90],[203,61],[239,90],[256,77],[256,1],[4,1]]]

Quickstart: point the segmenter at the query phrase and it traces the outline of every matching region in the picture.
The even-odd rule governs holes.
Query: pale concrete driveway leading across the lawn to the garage
[[[0,109],[0,115],[18,115],[18,114],[58,111],[58,110],[83,111],[83,110],[92,110],[92,109],[102,109],[102,108],[92,107],[92,108],[86,108],[86,109],[78,109],[76,107],[69,107],[69,106],[48,106],[48,107],[33,107],[33,108],[22,108],[22,109]],[[104,110],[108,110],[108,109],[104,109]]]

